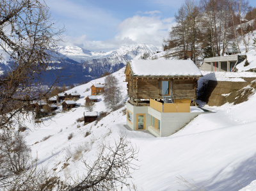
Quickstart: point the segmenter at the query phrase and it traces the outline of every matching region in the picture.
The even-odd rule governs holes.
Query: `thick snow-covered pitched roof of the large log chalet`
[[[128,65],[132,75],[137,76],[202,76],[191,60],[134,59]]]

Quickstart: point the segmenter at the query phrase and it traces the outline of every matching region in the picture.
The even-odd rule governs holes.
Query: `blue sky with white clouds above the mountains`
[[[65,44],[112,50],[138,43],[161,46],[184,0],[45,0],[65,26]],[[252,6],[256,1],[250,0]]]

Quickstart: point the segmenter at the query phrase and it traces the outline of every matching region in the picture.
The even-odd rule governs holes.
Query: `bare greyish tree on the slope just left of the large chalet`
[[[109,109],[115,109],[122,100],[118,79],[111,74],[106,76],[104,83],[104,103]]]

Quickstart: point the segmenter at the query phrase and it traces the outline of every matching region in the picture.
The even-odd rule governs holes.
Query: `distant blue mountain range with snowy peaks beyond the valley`
[[[140,59],[145,53],[149,56],[155,54],[159,48],[154,45],[131,45],[122,46],[117,50],[109,52],[91,52],[77,46],[60,46],[57,48],[59,56],[63,59],[63,67],[61,68],[62,76],[70,76],[68,80],[60,82],[62,84],[79,84],[81,82],[90,81],[100,77],[105,72],[113,73],[124,67],[127,61],[131,59]],[[8,57],[4,57],[0,63],[0,72],[8,70]],[[56,70],[60,67],[49,68],[47,82],[51,84],[54,80]]]

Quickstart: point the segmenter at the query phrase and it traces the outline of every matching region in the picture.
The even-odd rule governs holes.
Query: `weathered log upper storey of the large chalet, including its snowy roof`
[[[145,68],[147,68],[147,63],[152,63],[150,65],[152,66],[152,73],[147,72],[147,70],[143,72],[142,66],[136,68],[136,61],[128,63],[125,68],[125,81],[128,82],[127,93],[131,103],[140,105],[140,103],[145,103],[145,100],[163,100],[164,96],[172,98],[173,103],[190,103],[191,99],[195,100],[197,80],[202,74],[193,61],[182,60],[180,63],[179,61],[175,61],[177,63],[174,63],[173,67],[172,63],[174,61],[172,60],[161,61],[161,63],[164,63],[162,67],[157,63],[159,60],[138,61],[138,65],[142,63],[142,65],[145,65]],[[189,68],[183,66],[182,63],[188,63],[188,66],[194,65],[193,69],[196,68],[197,73],[186,72]],[[156,71],[155,68],[159,70]],[[179,68],[179,72],[177,70],[173,72],[172,68],[173,70]]]

